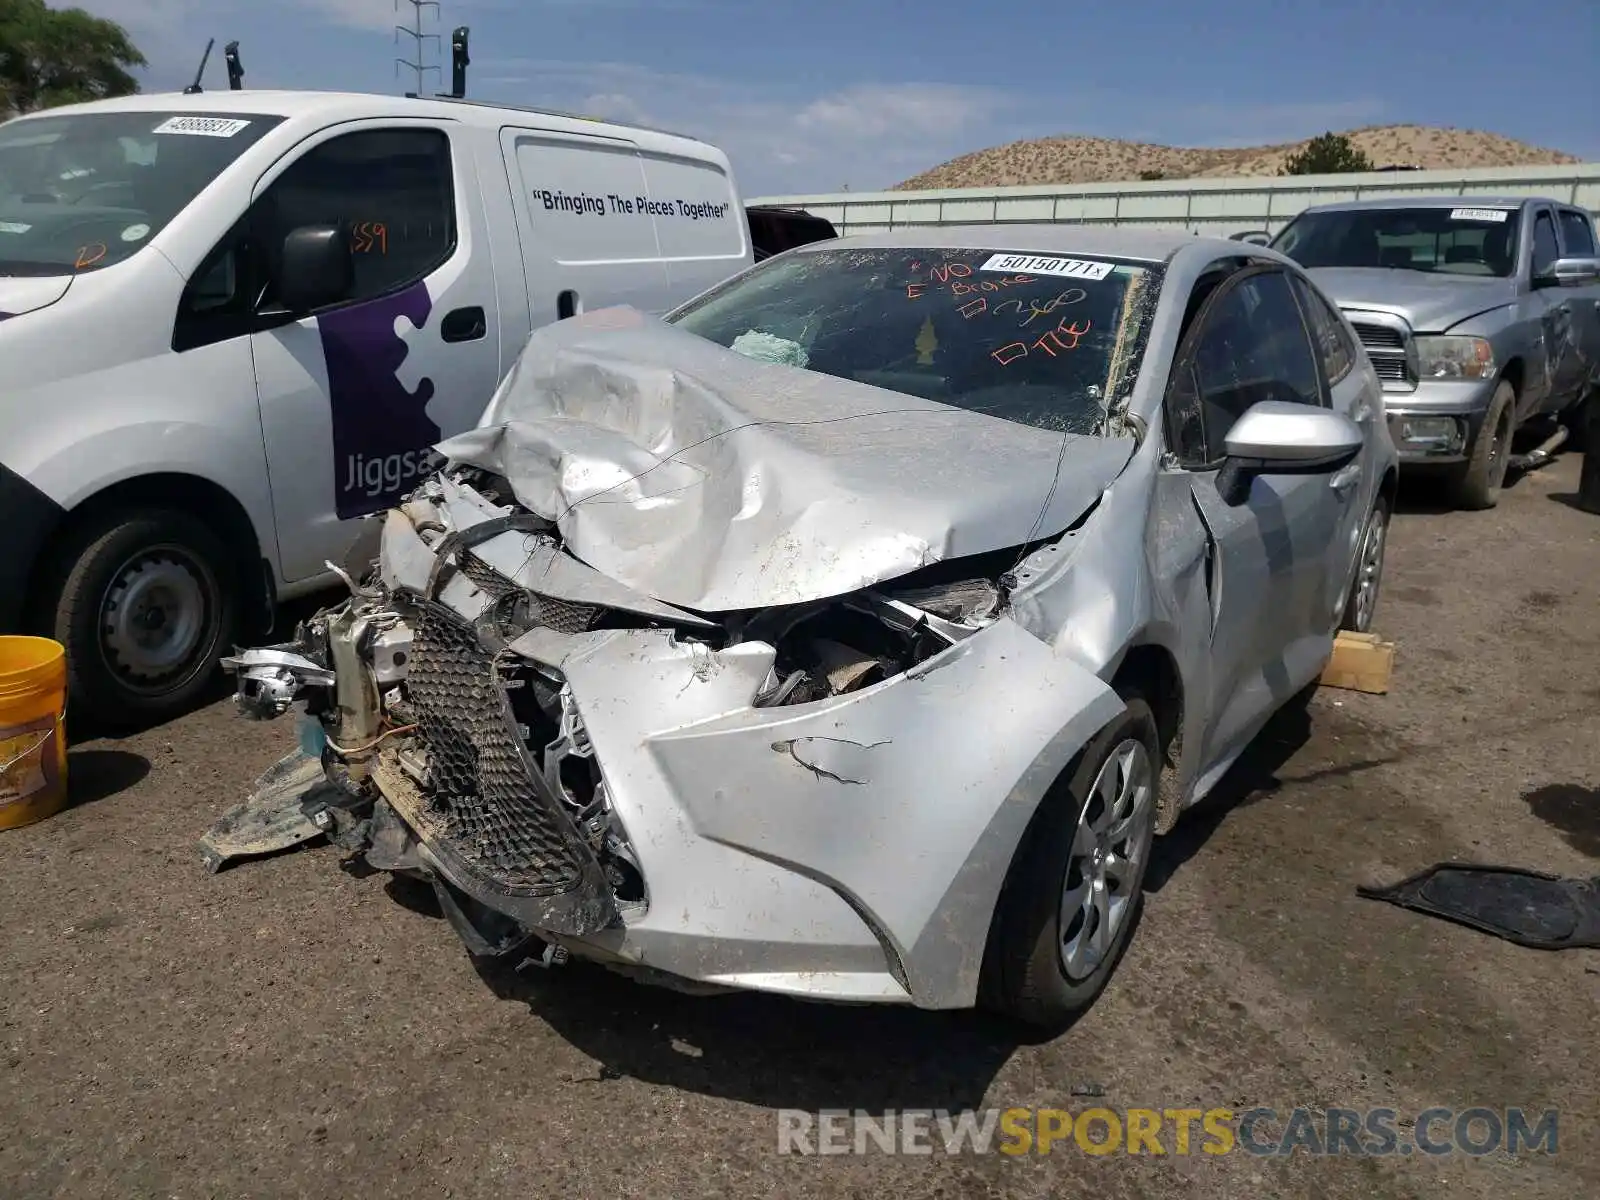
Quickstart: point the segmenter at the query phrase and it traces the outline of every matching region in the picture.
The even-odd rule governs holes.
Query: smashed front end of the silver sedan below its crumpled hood
[[[314,794],[251,805],[427,880],[475,955],[974,1003],[1029,819],[1122,709],[1013,619],[1016,552],[710,619],[506,493],[434,477],[370,584],[227,661],[248,715],[298,712],[282,773],[322,763]]]

